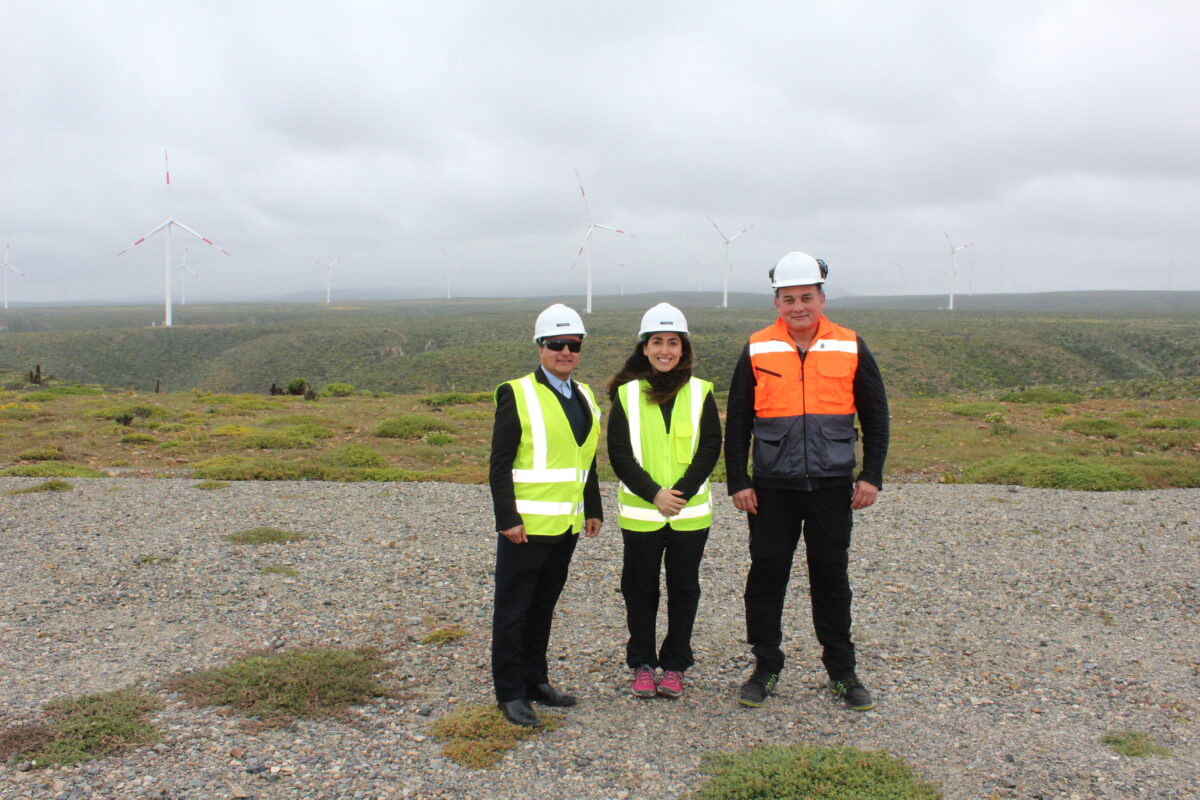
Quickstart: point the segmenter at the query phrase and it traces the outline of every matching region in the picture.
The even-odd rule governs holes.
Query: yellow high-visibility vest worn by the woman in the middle
[[[646,387],[644,380],[631,380],[617,390],[617,401],[629,420],[634,458],[655,483],[671,488],[688,471],[700,446],[700,416],[713,384],[691,378],[679,390],[671,409],[671,431],[662,420],[662,410],[646,399]],[[700,530],[713,524],[713,498],[707,477],[674,517],[664,517],[653,503],[637,497],[624,483],[617,498],[620,503],[618,522],[626,530],[659,530],[664,525],[672,530]]]

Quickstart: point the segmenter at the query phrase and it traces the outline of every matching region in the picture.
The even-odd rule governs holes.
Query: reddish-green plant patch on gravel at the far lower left
[[[41,720],[0,729],[0,762],[72,765],[158,740],[149,715],[162,708],[137,688],[48,703]]]

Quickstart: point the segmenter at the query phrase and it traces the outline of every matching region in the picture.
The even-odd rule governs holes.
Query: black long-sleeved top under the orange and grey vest
[[[802,354],[800,357],[804,357]],[[755,488],[750,479],[750,437],[754,433],[754,369],[750,368],[750,344],[742,348],[742,355],[733,368],[730,381],[730,398],[725,409],[725,471],[730,494]],[[854,408],[863,428],[863,470],[856,480],[883,488],[883,461],[888,456],[888,396],[883,389],[883,377],[875,356],[866,349],[863,337],[858,337],[858,369],[854,372]],[[826,486],[848,483],[846,477],[794,477],[758,481],[761,488],[816,489]]]

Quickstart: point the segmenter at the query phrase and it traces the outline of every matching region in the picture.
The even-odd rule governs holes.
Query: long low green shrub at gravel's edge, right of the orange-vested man
[[[1074,456],[1028,453],[991,458],[962,469],[966,483],[1008,483],[1043,489],[1120,492],[1144,489],[1146,482],[1130,473]]]

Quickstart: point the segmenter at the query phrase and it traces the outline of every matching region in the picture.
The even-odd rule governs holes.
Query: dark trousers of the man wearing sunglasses
[[[546,684],[546,648],[554,606],[563,594],[578,536],[530,536],[496,543],[496,600],[492,609],[492,684],[508,703]]]

